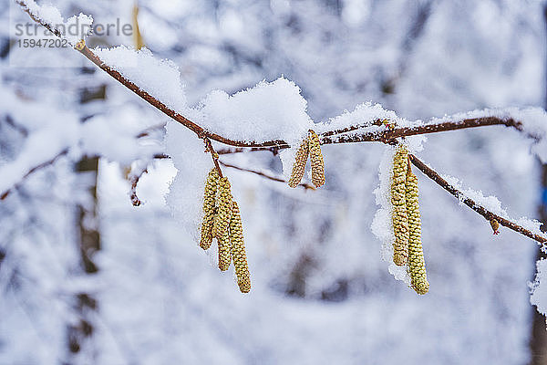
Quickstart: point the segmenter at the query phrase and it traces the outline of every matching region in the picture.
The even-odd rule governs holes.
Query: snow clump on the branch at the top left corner
[[[61,36],[67,39],[68,43],[76,46],[80,40],[85,40],[92,31],[93,17],[80,13],[78,16],[71,16],[65,21],[57,7],[53,5],[37,5],[34,0],[26,0],[26,9],[36,19],[57,29]]]

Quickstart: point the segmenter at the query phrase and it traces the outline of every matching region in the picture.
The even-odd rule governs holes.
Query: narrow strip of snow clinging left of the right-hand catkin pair
[[[378,169],[378,177],[380,180],[379,186],[374,190],[376,202],[380,205],[374,220],[371,224],[371,230],[374,235],[382,242],[380,251],[384,261],[389,263],[387,267],[389,273],[397,280],[404,281],[407,285],[410,284],[406,266],[397,266],[393,263],[393,242],[395,235],[393,234],[393,224],[391,222],[391,212],[393,205],[391,204],[391,179],[393,175],[393,156],[395,148],[388,146]]]

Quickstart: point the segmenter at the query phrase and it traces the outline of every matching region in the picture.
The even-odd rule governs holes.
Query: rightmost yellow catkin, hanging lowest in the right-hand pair
[[[426,294],[429,290],[426,274],[426,261],[421,243],[421,219],[418,203],[418,178],[408,169],[407,183],[407,213],[408,213],[408,273],[410,285],[418,294]]]

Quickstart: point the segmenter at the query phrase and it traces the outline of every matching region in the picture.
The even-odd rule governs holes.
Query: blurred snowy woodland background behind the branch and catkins
[[[201,196],[188,200],[190,189],[211,168],[201,141],[172,122],[166,135],[167,117],[70,48],[18,47],[13,25],[29,18],[8,0],[0,4],[0,194],[12,188],[0,201],[0,364],[531,360],[538,246],[503,228],[492,235],[478,214],[416,172],[430,283],[427,295],[416,295],[389,274],[371,232],[380,143],[325,146],[327,183],[315,192],[224,169],[253,280],[242,295],[232,271],[220,273],[189,230],[195,222],[185,212],[201,204]],[[51,4],[65,17],[135,24],[129,0]],[[224,112],[239,114],[215,111],[225,95],[213,89],[232,95],[281,76],[300,88],[310,120],[298,99],[265,99],[249,112],[278,112],[283,125],[327,121],[366,101],[408,120],[542,107],[542,6],[139,0],[144,43],[154,59],[172,63],[141,51],[141,70],[157,63],[164,72],[133,77],[196,119],[209,105],[217,123]],[[88,38],[89,47],[119,45],[134,47],[135,39]],[[173,161],[152,158],[166,151]],[[538,216],[541,164],[515,130],[429,135],[418,157],[497,196],[513,217]],[[265,151],[222,161],[283,173]],[[143,204],[134,207],[131,178],[146,166],[137,189]]]

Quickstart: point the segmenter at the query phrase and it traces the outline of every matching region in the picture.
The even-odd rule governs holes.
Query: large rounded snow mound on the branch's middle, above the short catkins
[[[261,81],[232,96],[213,90],[198,110],[206,130],[236,141],[283,140],[298,147],[315,127],[300,88],[286,78]]]

